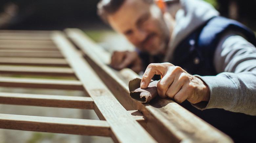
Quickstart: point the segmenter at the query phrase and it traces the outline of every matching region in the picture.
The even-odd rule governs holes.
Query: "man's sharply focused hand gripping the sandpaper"
[[[210,99],[209,88],[200,78],[171,63],[149,64],[142,76],[140,87],[147,88],[155,74],[162,77],[157,84],[158,94],[162,98],[169,97],[178,103],[188,100],[193,104],[208,102]]]

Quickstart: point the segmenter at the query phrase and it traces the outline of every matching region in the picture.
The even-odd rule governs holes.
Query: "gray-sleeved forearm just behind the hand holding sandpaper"
[[[196,76],[201,78],[210,90],[209,102],[193,104],[197,108],[201,110],[222,108],[232,112],[256,115],[256,71]]]

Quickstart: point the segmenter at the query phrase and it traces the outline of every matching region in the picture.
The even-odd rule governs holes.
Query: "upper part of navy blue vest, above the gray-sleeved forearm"
[[[213,56],[221,35],[238,31],[256,45],[255,35],[243,24],[224,17],[214,17],[200,26],[180,42],[174,51],[172,64],[180,66],[191,74],[216,75]]]

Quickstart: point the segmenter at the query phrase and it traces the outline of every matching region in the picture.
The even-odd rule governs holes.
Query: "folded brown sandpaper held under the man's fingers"
[[[158,96],[157,83],[158,81],[151,81],[149,86],[145,89],[140,88],[140,78],[135,78],[129,81],[130,96],[141,103],[147,103]]]

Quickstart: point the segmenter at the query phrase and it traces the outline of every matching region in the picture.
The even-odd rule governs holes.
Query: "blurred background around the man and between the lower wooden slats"
[[[112,52],[118,49],[133,49],[124,37],[104,24],[96,14],[99,0],[0,0],[0,29],[10,30],[63,30],[80,28],[102,47]],[[256,31],[256,0],[205,0],[212,4],[221,15],[240,21]],[[124,47],[125,46],[125,47]],[[1,75],[1,73],[0,73]],[[0,88],[0,92],[26,93],[25,89]],[[43,91],[34,91],[41,93]],[[82,93],[67,91],[47,91],[49,94],[69,94],[83,96]],[[44,91],[45,93],[45,91]],[[97,119],[91,111],[56,109],[50,107],[30,107],[0,105],[0,113]],[[110,138],[79,135],[52,134],[0,129],[0,143],[80,143],[112,142]]]

